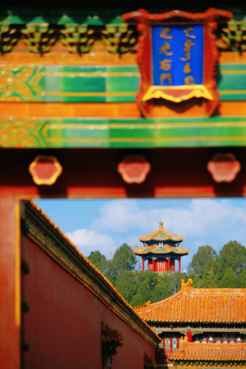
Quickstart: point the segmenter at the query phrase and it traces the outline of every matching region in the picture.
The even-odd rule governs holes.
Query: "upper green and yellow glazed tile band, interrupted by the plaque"
[[[0,101],[134,102],[137,66],[23,66],[0,68]],[[246,100],[246,65],[220,65],[222,101]]]

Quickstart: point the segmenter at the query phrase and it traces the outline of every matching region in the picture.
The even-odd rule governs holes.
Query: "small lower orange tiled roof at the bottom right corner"
[[[172,352],[169,360],[245,361],[246,344],[200,344],[187,342]]]

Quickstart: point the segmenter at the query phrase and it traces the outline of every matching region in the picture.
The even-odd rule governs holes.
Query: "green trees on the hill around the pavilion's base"
[[[237,241],[229,241],[218,254],[212,246],[199,246],[187,273],[142,273],[142,260],[135,256],[134,248],[124,243],[110,260],[98,250],[88,257],[133,307],[166,299],[181,289],[182,279],[193,279],[193,287],[246,287],[246,248]]]

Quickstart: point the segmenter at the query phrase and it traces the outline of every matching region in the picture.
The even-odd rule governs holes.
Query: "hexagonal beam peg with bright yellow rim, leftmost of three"
[[[36,184],[51,186],[62,173],[62,166],[54,156],[39,155],[29,165],[29,172]]]

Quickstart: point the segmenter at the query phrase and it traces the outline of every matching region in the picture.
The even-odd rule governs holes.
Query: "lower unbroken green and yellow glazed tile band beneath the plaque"
[[[1,147],[157,148],[245,145],[246,117],[0,120]]]

